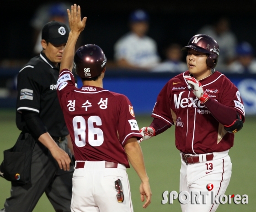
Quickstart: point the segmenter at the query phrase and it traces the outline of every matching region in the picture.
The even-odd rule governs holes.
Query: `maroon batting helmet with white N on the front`
[[[211,36],[203,34],[192,36],[187,46],[181,48],[181,51],[187,52],[187,48],[209,54],[208,58],[206,59],[206,64],[208,67],[214,68],[217,65],[219,57],[219,45]]]

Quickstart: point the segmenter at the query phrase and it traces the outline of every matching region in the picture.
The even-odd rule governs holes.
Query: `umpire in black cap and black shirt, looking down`
[[[31,183],[12,182],[11,197],[1,212],[32,212],[43,192],[56,212],[70,212],[74,165],[70,165],[70,137],[56,92],[68,36],[63,23],[47,23],[42,30],[43,51],[18,74],[16,125],[21,134],[35,140]]]

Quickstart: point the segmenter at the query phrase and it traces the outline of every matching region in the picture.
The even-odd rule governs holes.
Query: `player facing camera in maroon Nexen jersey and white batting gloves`
[[[141,140],[175,125],[176,147],[181,155],[180,191],[199,192],[198,204],[181,204],[182,212],[214,212],[211,195],[203,204],[201,191],[213,185],[224,194],[231,176],[229,149],[234,133],[243,127],[245,110],[238,89],[215,71],[219,45],[208,35],[195,35],[186,47],[188,71],[172,78],[157,97],[149,127]],[[184,198],[185,199],[185,198]],[[214,202],[214,201],[213,201]]]

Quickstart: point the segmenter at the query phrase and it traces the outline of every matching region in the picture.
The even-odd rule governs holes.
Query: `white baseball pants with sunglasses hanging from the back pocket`
[[[123,185],[123,202],[117,202],[118,178]],[[105,161],[85,161],[84,168],[74,171],[72,193],[72,212],[133,212],[128,175],[121,164],[105,168]]]

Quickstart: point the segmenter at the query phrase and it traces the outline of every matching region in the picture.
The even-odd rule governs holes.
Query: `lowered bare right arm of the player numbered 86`
[[[143,205],[143,207],[146,208],[149,206],[151,202],[152,193],[149,186],[149,177],[147,176],[146,173],[142,150],[137,141],[137,138],[129,138],[124,145],[124,149],[127,154],[129,162],[131,163],[131,165],[133,166],[134,170],[137,172],[141,180],[141,184],[139,186],[140,199],[142,202],[144,202],[144,196],[146,196],[146,202]]]

